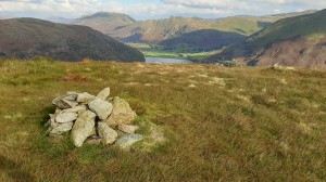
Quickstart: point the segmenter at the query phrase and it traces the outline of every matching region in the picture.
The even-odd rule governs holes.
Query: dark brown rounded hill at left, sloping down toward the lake
[[[0,21],[0,55],[30,58],[36,55],[60,61],[84,57],[103,61],[145,61],[142,53],[100,31],[77,25],[35,18]]]

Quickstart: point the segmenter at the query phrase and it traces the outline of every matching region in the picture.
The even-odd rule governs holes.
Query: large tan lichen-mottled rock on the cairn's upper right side
[[[118,96],[113,100],[113,110],[105,120],[109,126],[117,126],[121,123],[131,123],[136,118],[136,113],[130,108],[129,104]]]

